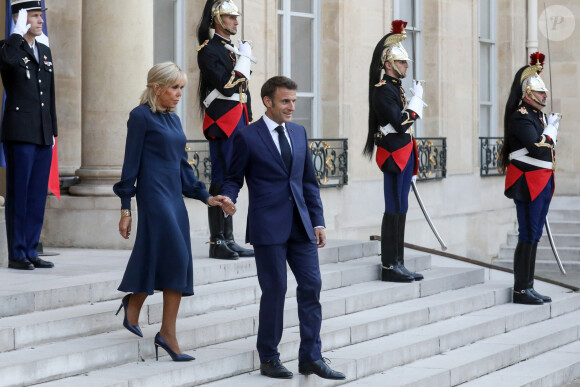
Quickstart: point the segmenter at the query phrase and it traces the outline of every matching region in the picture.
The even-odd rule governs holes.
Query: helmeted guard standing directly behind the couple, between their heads
[[[200,109],[204,113],[203,134],[209,140],[212,195],[221,193],[232,151],[230,137],[237,128],[252,120],[250,107],[250,66],[252,47],[239,42],[236,48],[230,37],[238,27],[238,8],[232,1],[207,0],[197,30],[201,46],[197,63]],[[210,38],[210,29],[215,33]],[[210,258],[238,259],[252,257],[254,251],[239,246],[234,240],[232,217],[224,217],[218,207],[208,209]]]

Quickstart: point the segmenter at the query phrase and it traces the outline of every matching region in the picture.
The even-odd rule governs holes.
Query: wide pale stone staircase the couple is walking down
[[[295,376],[262,377],[253,259],[202,258],[206,247],[193,245],[196,295],[182,301],[178,336],[197,360],[172,362],[161,350],[155,361],[161,294],[142,310],[144,338],[122,328],[115,289],[128,251],[62,249],[54,270],[0,269],[0,386],[547,386],[580,377],[580,295],[537,283],[552,304],[514,305],[511,275],[412,250],[407,266],[425,280],[380,282],[370,241],[320,250],[324,356],[347,380],[298,374],[292,275],[279,349]]]

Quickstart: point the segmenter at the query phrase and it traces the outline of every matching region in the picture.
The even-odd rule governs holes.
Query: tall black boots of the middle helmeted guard
[[[398,215],[385,213],[381,225],[381,281],[413,282],[412,275],[406,274],[399,264]]]

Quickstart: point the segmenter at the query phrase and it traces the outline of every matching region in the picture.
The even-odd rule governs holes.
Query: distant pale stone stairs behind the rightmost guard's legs
[[[580,197],[555,196],[548,213],[550,228],[558,255],[566,271],[580,273]],[[518,232],[508,233],[507,243],[502,244],[498,259],[493,263],[499,266],[513,268],[514,251],[518,243]],[[558,271],[554,253],[546,236],[546,230],[538,244],[536,256],[536,271]]]

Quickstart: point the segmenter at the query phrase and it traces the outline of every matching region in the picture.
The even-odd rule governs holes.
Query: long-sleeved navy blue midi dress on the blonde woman
[[[113,186],[121,208],[137,197],[137,235],[122,292],[153,294],[172,289],[193,294],[189,218],[183,195],[207,201],[205,185],[187,161],[186,138],[173,113],[153,113],[148,105],[131,111],[121,181]]]

